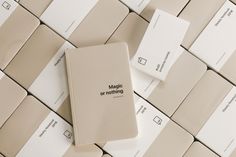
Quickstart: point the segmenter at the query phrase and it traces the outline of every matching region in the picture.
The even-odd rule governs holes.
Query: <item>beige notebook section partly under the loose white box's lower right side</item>
[[[155,88],[148,100],[172,116],[204,75],[206,68],[206,65],[185,51],[173,65],[166,81]]]

